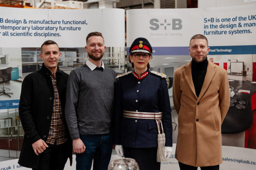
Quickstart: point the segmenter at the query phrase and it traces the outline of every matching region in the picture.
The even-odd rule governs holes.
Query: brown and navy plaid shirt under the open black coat
[[[57,145],[64,143],[67,141],[66,137],[66,128],[63,123],[63,114],[59,99],[59,92],[56,83],[55,74],[51,74],[53,90],[54,90],[54,102],[53,102],[53,110],[52,110],[52,121],[50,125],[50,130],[48,133],[48,137],[46,143],[54,144],[55,140]]]

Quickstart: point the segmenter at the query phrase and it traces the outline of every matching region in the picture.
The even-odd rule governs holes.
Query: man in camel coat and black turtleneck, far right
[[[181,170],[218,170],[222,163],[221,124],[229,109],[229,83],[227,71],[207,59],[209,49],[205,36],[193,36],[192,60],[174,72],[175,157]]]

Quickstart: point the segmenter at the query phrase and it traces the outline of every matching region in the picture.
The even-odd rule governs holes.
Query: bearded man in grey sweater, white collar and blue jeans
[[[99,32],[86,38],[89,60],[71,71],[65,116],[76,153],[76,169],[107,170],[113,144],[116,72],[101,61],[106,46]]]

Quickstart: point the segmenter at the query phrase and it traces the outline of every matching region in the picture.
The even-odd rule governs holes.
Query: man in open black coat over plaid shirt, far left
[[[25,134],[18,163],[24,167],[63,170],[68,157],[72,164],[72,140],[64,117],[68,74],[59,70],[60,55],[56,42],[44,42],[41,70],[22,83],[19,115]]]

